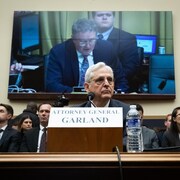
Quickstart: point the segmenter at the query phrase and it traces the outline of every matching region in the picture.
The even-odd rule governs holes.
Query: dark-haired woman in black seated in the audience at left
[[[33,121],[29,115],[22,115],[17,123],[18,133],[12,138],[12,143],[10,145],[10,152],[19,152],[19,148],[24,136],[24,132],[33,127]]]

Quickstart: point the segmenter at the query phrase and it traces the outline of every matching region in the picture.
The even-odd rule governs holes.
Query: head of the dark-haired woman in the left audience
[[[20,132],[24,132],[24,131],[31,129],[32,127],[33,126],[32,126],[31,117],[28,115],[24,115],[21,117],[21,119],[18,122],[17,130]]]

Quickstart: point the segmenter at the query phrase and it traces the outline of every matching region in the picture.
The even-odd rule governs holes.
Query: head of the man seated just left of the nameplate
[[[43,127],[48,126],[51,107],[52,105],[49,103],[41,103],[38,106],[38,117],[39,117],[40,125]]]

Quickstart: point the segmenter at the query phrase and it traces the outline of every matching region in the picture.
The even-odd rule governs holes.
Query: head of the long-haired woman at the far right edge
[[[180,132],[180,107],[176,107],[173,109],[171,125],[169,129],[177,133]]]

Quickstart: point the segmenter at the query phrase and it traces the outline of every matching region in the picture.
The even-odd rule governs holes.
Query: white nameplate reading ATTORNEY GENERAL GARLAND
[[[122,107],[52,107],[48,127],[123,127]]]

